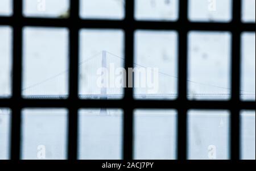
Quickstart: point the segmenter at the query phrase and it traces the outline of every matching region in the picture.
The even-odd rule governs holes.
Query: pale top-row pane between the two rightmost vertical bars
[[[232,19],[232,0],[189,0],[188,2],[189,19],[192,21],[229,22]]]

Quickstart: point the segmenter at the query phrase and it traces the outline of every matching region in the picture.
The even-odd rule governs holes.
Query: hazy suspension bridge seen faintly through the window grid
[[[89,62],[92,62],[93,59],[97,59],[98,60],[94,60],[94,63],[97,63],[97,66],[100,66],[101,68],[107,68],[107,61],[108,61],[108,56],[112,56],[115,57],[115,59],[113,61],[116,60],[121,60],[121,63],[124,62],[125,58],[124,57],[120,57],[118,55],[115,55],[112,52],[108,52],[108,51],[100,51],[95,53],[94,55],[90,56],[89,58],[79,62],[79,65],[77,66],[78,68],[82,67],[82,65],[84,64],[88,64]],[[90,65],[90,63],[89,63]],[[95,64],[93,64],[94,66],[96,66]],[[139,68],[147,68],[147,66],[141,65],[141,64],[137,64],[134,63],[134,67],[139,67]],[[38,93],[39,89],[37,87],[40,87],[40,85],[58,79],[59,77],[63,76],[64,74],[67,74],[69,72],[69,69],[64,70],[63,72],[57,73],[55,75],[53,75],[52,77],[47,78],[46,80],[42,80],[40,82],[37,82],[36,84],[30,85],[28,87],[24,87],[22,89],[24,98],[28,98],[28,99],[65,99],[68,98],[68,95],[43,95],[44,93]],[[86,73],[83,73],[86,74]],[[164,72],[160,72],[159,71],[159,76],[166,76],[166,77],[171,77],[174,79],[179,79],[177,76],[173,76],[171,74],[168,73],[164,73]],[[214,87],[220,90],[228,90],[231,91],[231,89],[229,87],[221,87],[221,86],[216,86],[216,85],[209,85],[209,84],[204,84],[203,82],[196,82],[193,80],[187,80],[188,82],[191,82],[193,84],[197,84],[197,85],[201,85],[201,86],[208,86],[208,87]],[[90,81],[89,81],[90,82]],[[92,86],[92,85],[89,85]],[[41,88],[40,88],[41,89]],[[42,94],[42,95],[38,95],[38,94]],[[253,91],[246,91],[246,90],[241,90],[241,96],[242,97],[246,97],[246,98],[255,98],[255,92]],[[123,97],[122,92],[118,92],[118,93],[113,93],[113,92],[109,92],[108,88],[106,87],[101,87],[99,93],[86,93],[86,94],[79,94],[79,98],[81,99],[120,99]],[[140,93],[136,93],[134,94],[134,98],[137,99],[175,99],[177,97],[176,93],[155,93],[155,94],[148,94],[148,93],[144,93],[144,94],[140,94]],[[229,93],[189,93],[187,95],[187,97],[189,99],[193,99],[193,98],[198,98],[198,97],[207,97],[207,98],[217,98],[217,97],[230,97]]]

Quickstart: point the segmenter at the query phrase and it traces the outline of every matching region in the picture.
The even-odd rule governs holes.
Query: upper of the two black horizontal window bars
[[[0,17],[0,25],[15,26],[14,17]],[[22,18],[22,26],[69,27],[79,28],[119,28],[119,29],[144,29],[144,30],[203,30],[203,31],[233,31],[236,27],[240,31],[255,31],[255,23],[200,23],[200,22],[155,22],[155,21],[126,21],[126,20],[70,20],[46,18]],[[75,24],[75,25],[74,25]],[[128,26],[128,27],[127,27]],[[185,27],[184,27],[185,26]]]

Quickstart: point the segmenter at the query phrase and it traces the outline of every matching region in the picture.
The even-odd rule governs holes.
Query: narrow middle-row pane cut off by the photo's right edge
[[[255,32],[242,34],[242,100],[255,101]]]

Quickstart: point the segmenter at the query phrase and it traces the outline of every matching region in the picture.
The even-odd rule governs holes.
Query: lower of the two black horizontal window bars
[[[122,100],[86,100],[78,99],[76,102],[69,99],[0,99],[0,107],[15,108],[20,107],[81,107],[97,108],[126,108],[127,101]],[[144,101],[133,100],[129,101],[129,106],[133,108],[145,109],[255,109],[255,102],[237,102],[233,101]]]

